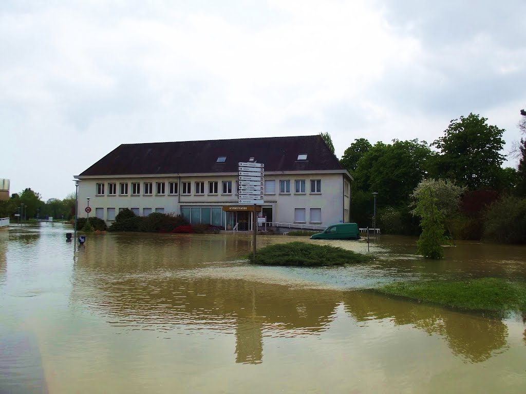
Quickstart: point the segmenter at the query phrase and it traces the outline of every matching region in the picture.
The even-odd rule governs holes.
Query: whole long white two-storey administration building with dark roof
[[[175,213],[191,223],[251,229],[238,204],[238,162],[265,164],[259,216],[319,229],[349,221],[350,174],[320,136],[123,144],[75,178],[78,211],[111,224],[119,210]]]

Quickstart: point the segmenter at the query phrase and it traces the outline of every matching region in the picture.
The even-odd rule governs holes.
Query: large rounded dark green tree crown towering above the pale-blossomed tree
[[[504,129],[490,126],[488,119],[470,113],[467,118],[454,119],[444,136],[432,143],[440,149],[436,171],[440,178],[479,189],[495,188],[499,183],[504,156]]]

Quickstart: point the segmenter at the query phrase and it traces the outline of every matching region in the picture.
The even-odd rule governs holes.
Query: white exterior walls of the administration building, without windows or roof
[[[305,180],[305,194],[295,193],[295,180]],[[321,193],[310,192],[310,180],[321,180]],[[107,208],[115,208],[116,214],[119,208],[139,208],[143,214],[143,208],[151,208],[155,212],[156,208],[164,208],[165,213],[174,212],[180,214],[181,205],[228,205],[237,204],[238,196],[236,194],[236,176],[203,176],[203,177],[181,177],[180,182],[191,182],[191,195],[181,193],[181,183],[179,183],[179,194],[168,195],[168,182],[177,182],[177,177],[141,177],[141,178],[88,178],[79,182],[78,188],[78,215],[86,217],[84,211],[87,206],[86,198],[89,197],[89,206],[92,208],[90,216],[95,216],[96,208],[104,208],[104,219],[107,220]],[[274,222],[294,223],[295,208],[305,208],[306,224],[310,224],[310,208],[321,209],[322,223],[313,223],[316,225],[328,226],[343,220],[344,203],[347,209],[350,208],[350,199],[343,198],[343,174],[282,174],[282,175],[265,175],[265,180],[276,181],[276,193],[265,195],[265,205],[272,207],[272,219]],[[279,181],[290,180],[290,193],[279,193]],[[195,195],[195,182],[205,182],[205,194]],[[208,181],[218,182],[218,194],[208,194]],[[222,194],[221,181],[232,182],[232,194]],[[128,195],[119,195],[119,183],[128,183]],[[140,183],[140,195],[131,195],[131,183]],[[144,195],[144,182],[153,183],[153,195]],[[166,194],[156,195],[156,182],[166,183]],[[96,195],[96,184],[105,184],[105,194]],[[108,193],[108,183],[117,184],[117,195],[110,196]],[[347,218],[348,220],[348,218]]]

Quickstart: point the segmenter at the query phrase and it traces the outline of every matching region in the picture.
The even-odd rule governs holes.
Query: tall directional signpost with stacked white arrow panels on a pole
[[[239,162],[239,186],[238,195],[240,204],[254,204],[254,220],[252,230],[254,230],[254,260],[256,260],[256,205],[263,205],[263,194],[265,193],[265,164],[249,162]]]

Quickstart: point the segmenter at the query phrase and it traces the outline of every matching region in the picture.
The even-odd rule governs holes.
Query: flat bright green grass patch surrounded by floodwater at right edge
[[[526,310],[526,283],[500,278],[396,282],[375,291],[461,309],[495,312]]]

